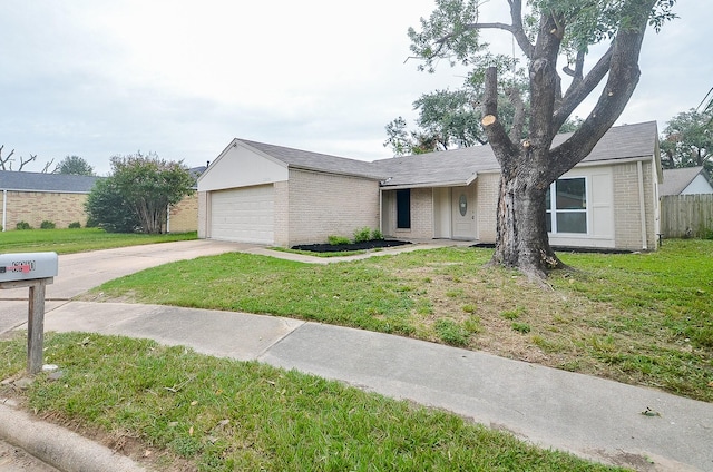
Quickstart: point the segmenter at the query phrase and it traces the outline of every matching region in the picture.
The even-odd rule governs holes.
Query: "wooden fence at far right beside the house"
[[[713,194],[661,197],[664,237],[704,237],[710,232],[713,232]]]

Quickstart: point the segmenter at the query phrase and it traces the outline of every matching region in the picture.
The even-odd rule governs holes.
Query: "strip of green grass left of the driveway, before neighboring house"
[[[36,253],[53,250],[57,254],[71,254],[195,238],[195,232],[145,235],[106,233],[99,228],[23,229],[0,233],[0,252]]]

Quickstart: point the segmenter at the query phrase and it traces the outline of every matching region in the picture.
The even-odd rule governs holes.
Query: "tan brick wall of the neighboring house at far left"
[[[9,190],[4,195],[7,230],[16,229],[19,222],[27,222],[33,228],[39,228],[43,220],[52,222],[57,228],[67,228],[75,222],[82,227],[87,224],[87,194]]]

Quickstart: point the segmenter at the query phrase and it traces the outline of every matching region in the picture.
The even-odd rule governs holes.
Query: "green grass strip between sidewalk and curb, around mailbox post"
[[[158,469],[614,470],[446,412],[152,341],[48,333],[45,355],[62,376],[38,375],[27,406],[115,444],[138,441]],[[20,373],[23,340],[0,341],[0,378]]]

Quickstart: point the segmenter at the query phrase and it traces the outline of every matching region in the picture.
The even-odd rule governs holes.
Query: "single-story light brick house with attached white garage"
[[[369,226],[494,243],[499,177],[488,146],[365,163],[234,139],[198,178],[198,237],[292,246]],[[550,243],[654,249],[661,179],[656,124],[612,128],[553,184]]]

